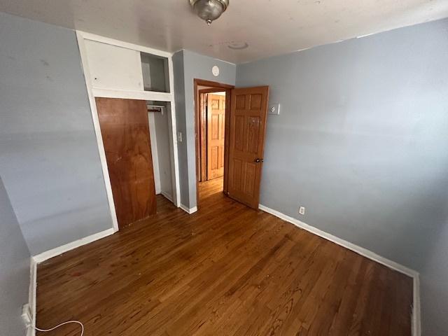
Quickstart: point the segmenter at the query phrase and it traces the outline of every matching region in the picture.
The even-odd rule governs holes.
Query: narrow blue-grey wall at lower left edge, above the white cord
[[[0,335],[25,335],[28,290],[29,251],[0,177]]]

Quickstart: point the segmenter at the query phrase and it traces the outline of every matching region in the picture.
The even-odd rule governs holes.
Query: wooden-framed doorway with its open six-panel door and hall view
[[[258,209],[269,87],[235,88],[198,79],[194,84],[198,207],[201,183],[216,183],[206,189]]]

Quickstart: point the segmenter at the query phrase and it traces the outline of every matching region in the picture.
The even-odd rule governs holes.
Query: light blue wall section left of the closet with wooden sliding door
[[[0,174],[32,255],[112,228],[74,31],[0,13]]]

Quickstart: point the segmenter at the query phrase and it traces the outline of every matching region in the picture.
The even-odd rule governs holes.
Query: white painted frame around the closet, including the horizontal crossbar
[[[170,117],[170,137],[172,139],[172,165],[174,167],[172,181],[173,184],[173,203],[176,207],[181,206],[181,188],[179,184],[179,156],[177,152],[177,137],[176,137],[176,106],[174,102],[174,73],[173,73],[173,59],[171,52],[165,52],[156,50],[153,48],[144,47],[142,45],[127,43],[123,41],[114,40],[112,38],[106,38],[104,36],[94,35],[85,31],[76,31],[76,38],[78,38],[78,48],[81,57],[81,65],[84,72],[85,85],[87,87],[87,95],[89,97],[90,111],[92,111],[92,120],[95,135],[97,137],[97,146],[99,152],[99,160],[101,161],[104,184],[106,186],[106,194],[109,202],[109,208],[111,209],[111,218],[113,223],[113,230],[118,231],[118,220],[113,203],[111,179],[109,176],[109,170],[107,169],[106,152],[104,151],[104,144],[101,135],[101,128],[99,127],[99,118],[97,111],[97,104],[95,103],[95,97],[107,97],[107,98],[124,98],[124,99],[141,99],[141,100],[156,100],[162,102],[169,102],[171,104]],[[87,51],[85,49],[85,40],[97,41],[110,45],[116,45],[121,48],[127,48],[131,50],[137,50],[141,52],[147,52],[148,54],[166,57],[168,59],[168,71],[169,71],[169,92],[152,92],[152,91],[127,91],[127,90],[109,90],[104,88],[97,88],[92,85],[90,78],[89,62],[87,57]]]

